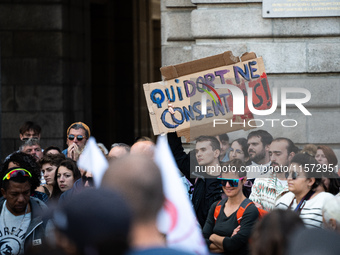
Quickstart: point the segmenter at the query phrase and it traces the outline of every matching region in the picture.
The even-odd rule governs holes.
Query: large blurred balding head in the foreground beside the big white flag
[[[141,155],[128,155],[111,161],[102,187],[121,192],[131,204],[137,222],[154,221],[164,203],[159,168]]]

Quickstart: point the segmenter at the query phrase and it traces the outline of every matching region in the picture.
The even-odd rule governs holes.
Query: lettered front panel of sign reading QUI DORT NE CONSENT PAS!
[[[158,123],[155,134],[206,124],[213,117],[235,119],[238,115],[252,119],[247,88],[252,90],[250,108],[264,110],[272,106],[262,58],[144,85],[153,127],[155,121]],[[244,105],[235,114],[237,102],[233,103],[233,97],[237,93],[244,97]],[[175,106],[174,115],[169,113],[168,103]]]

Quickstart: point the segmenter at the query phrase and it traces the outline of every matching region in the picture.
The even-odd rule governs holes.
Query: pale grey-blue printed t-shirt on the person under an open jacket
[[[0,214],[0,253],[24,254],[26,231],[31,222],[31,213],[13,215],[6,207],[6,201]]]

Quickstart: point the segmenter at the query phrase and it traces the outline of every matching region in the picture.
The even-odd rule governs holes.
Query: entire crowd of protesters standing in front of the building
[[[75,122],[67,148],[41,148],[38,124],[18,129],[0,171],[1,254],[340,253],[329,146],[254,129],[199,136],[189,153],[176,133],[108,150]]]

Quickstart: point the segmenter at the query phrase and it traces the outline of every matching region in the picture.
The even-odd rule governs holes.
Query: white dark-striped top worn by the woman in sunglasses
[[[322,227],[322,207],[328,199],[332,199],[334,196],[328,192],[320,192],[315,197],[306,201],[305,206],[302,208],[300,218],[308,228],[321,228]],[[295,210],[297,207],[295,195],[292,192],[288,192],[281,197],[275,207],[279,209],[288,209],[290,203],[293,201],[291,210]]]

